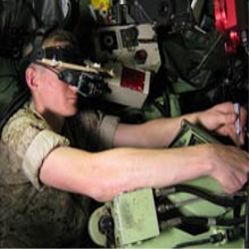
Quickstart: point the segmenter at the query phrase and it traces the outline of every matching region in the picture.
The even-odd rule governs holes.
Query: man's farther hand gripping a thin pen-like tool
[[[218,104],[206,111],[200,112],[198,122],[210,131],[215,131],[219,135],[229,136],[234,142],[237,141],[235,122],[240,119],[240,135],[239,142],[244,144],[245,125],[247,120],[247,112],[240,107],[240,117],[234,111],[233,103],[226,102]]]

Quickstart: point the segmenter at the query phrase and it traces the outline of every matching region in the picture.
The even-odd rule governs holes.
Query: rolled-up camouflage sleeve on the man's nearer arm
[[[2,140],[22,159],[20,167],[37,189],[44,159],[53,149],[69,145],[67,138],[48,129],[43,120],[18,114],[5,125]]]

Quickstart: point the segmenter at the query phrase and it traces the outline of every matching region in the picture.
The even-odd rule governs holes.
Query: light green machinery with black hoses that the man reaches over
[[[199,143],[219,142],[184,121],[171,146]],[[122,193],[93,212],[89,234],[103,247],[243,248],[246,196],[224,194],[209,177]]]

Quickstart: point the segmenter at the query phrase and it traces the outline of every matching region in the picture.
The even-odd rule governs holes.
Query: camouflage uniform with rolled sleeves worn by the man
[[[12,116],[3,129],[0,148],[1,247],[84,245],[89,198],[44,186],[39,169],[58,146],[70,144],[88,151],[110,148],[117,124],[115,117],[87,110],[66,119],[57,134],[32,102]]]

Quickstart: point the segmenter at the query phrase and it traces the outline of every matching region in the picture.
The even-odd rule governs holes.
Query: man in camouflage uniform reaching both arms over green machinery
[[[70,34],[57,30],[45,37],[42,47],[69,51],[72,44]],[[1,165],[10,179],[4,182],[3,200],[14,206],[9,204],[1,219],[2,247],[79,246],[88,216],[86,196],[107,201],[123,191],[200,176],[216,179],[228,193],[246,183],[249,155],[234,146],[165,148],[183,119],[235,140],[236,118],[242,131],[246,122],[243,108],[240,117],[232,103],[223,103],[181,117],[122,124],[99,111],[79,113],[77,87],[58,78],[61,70],[32,60],[25,72],[32,100],[3,129],[5,146],[21,163]]]

